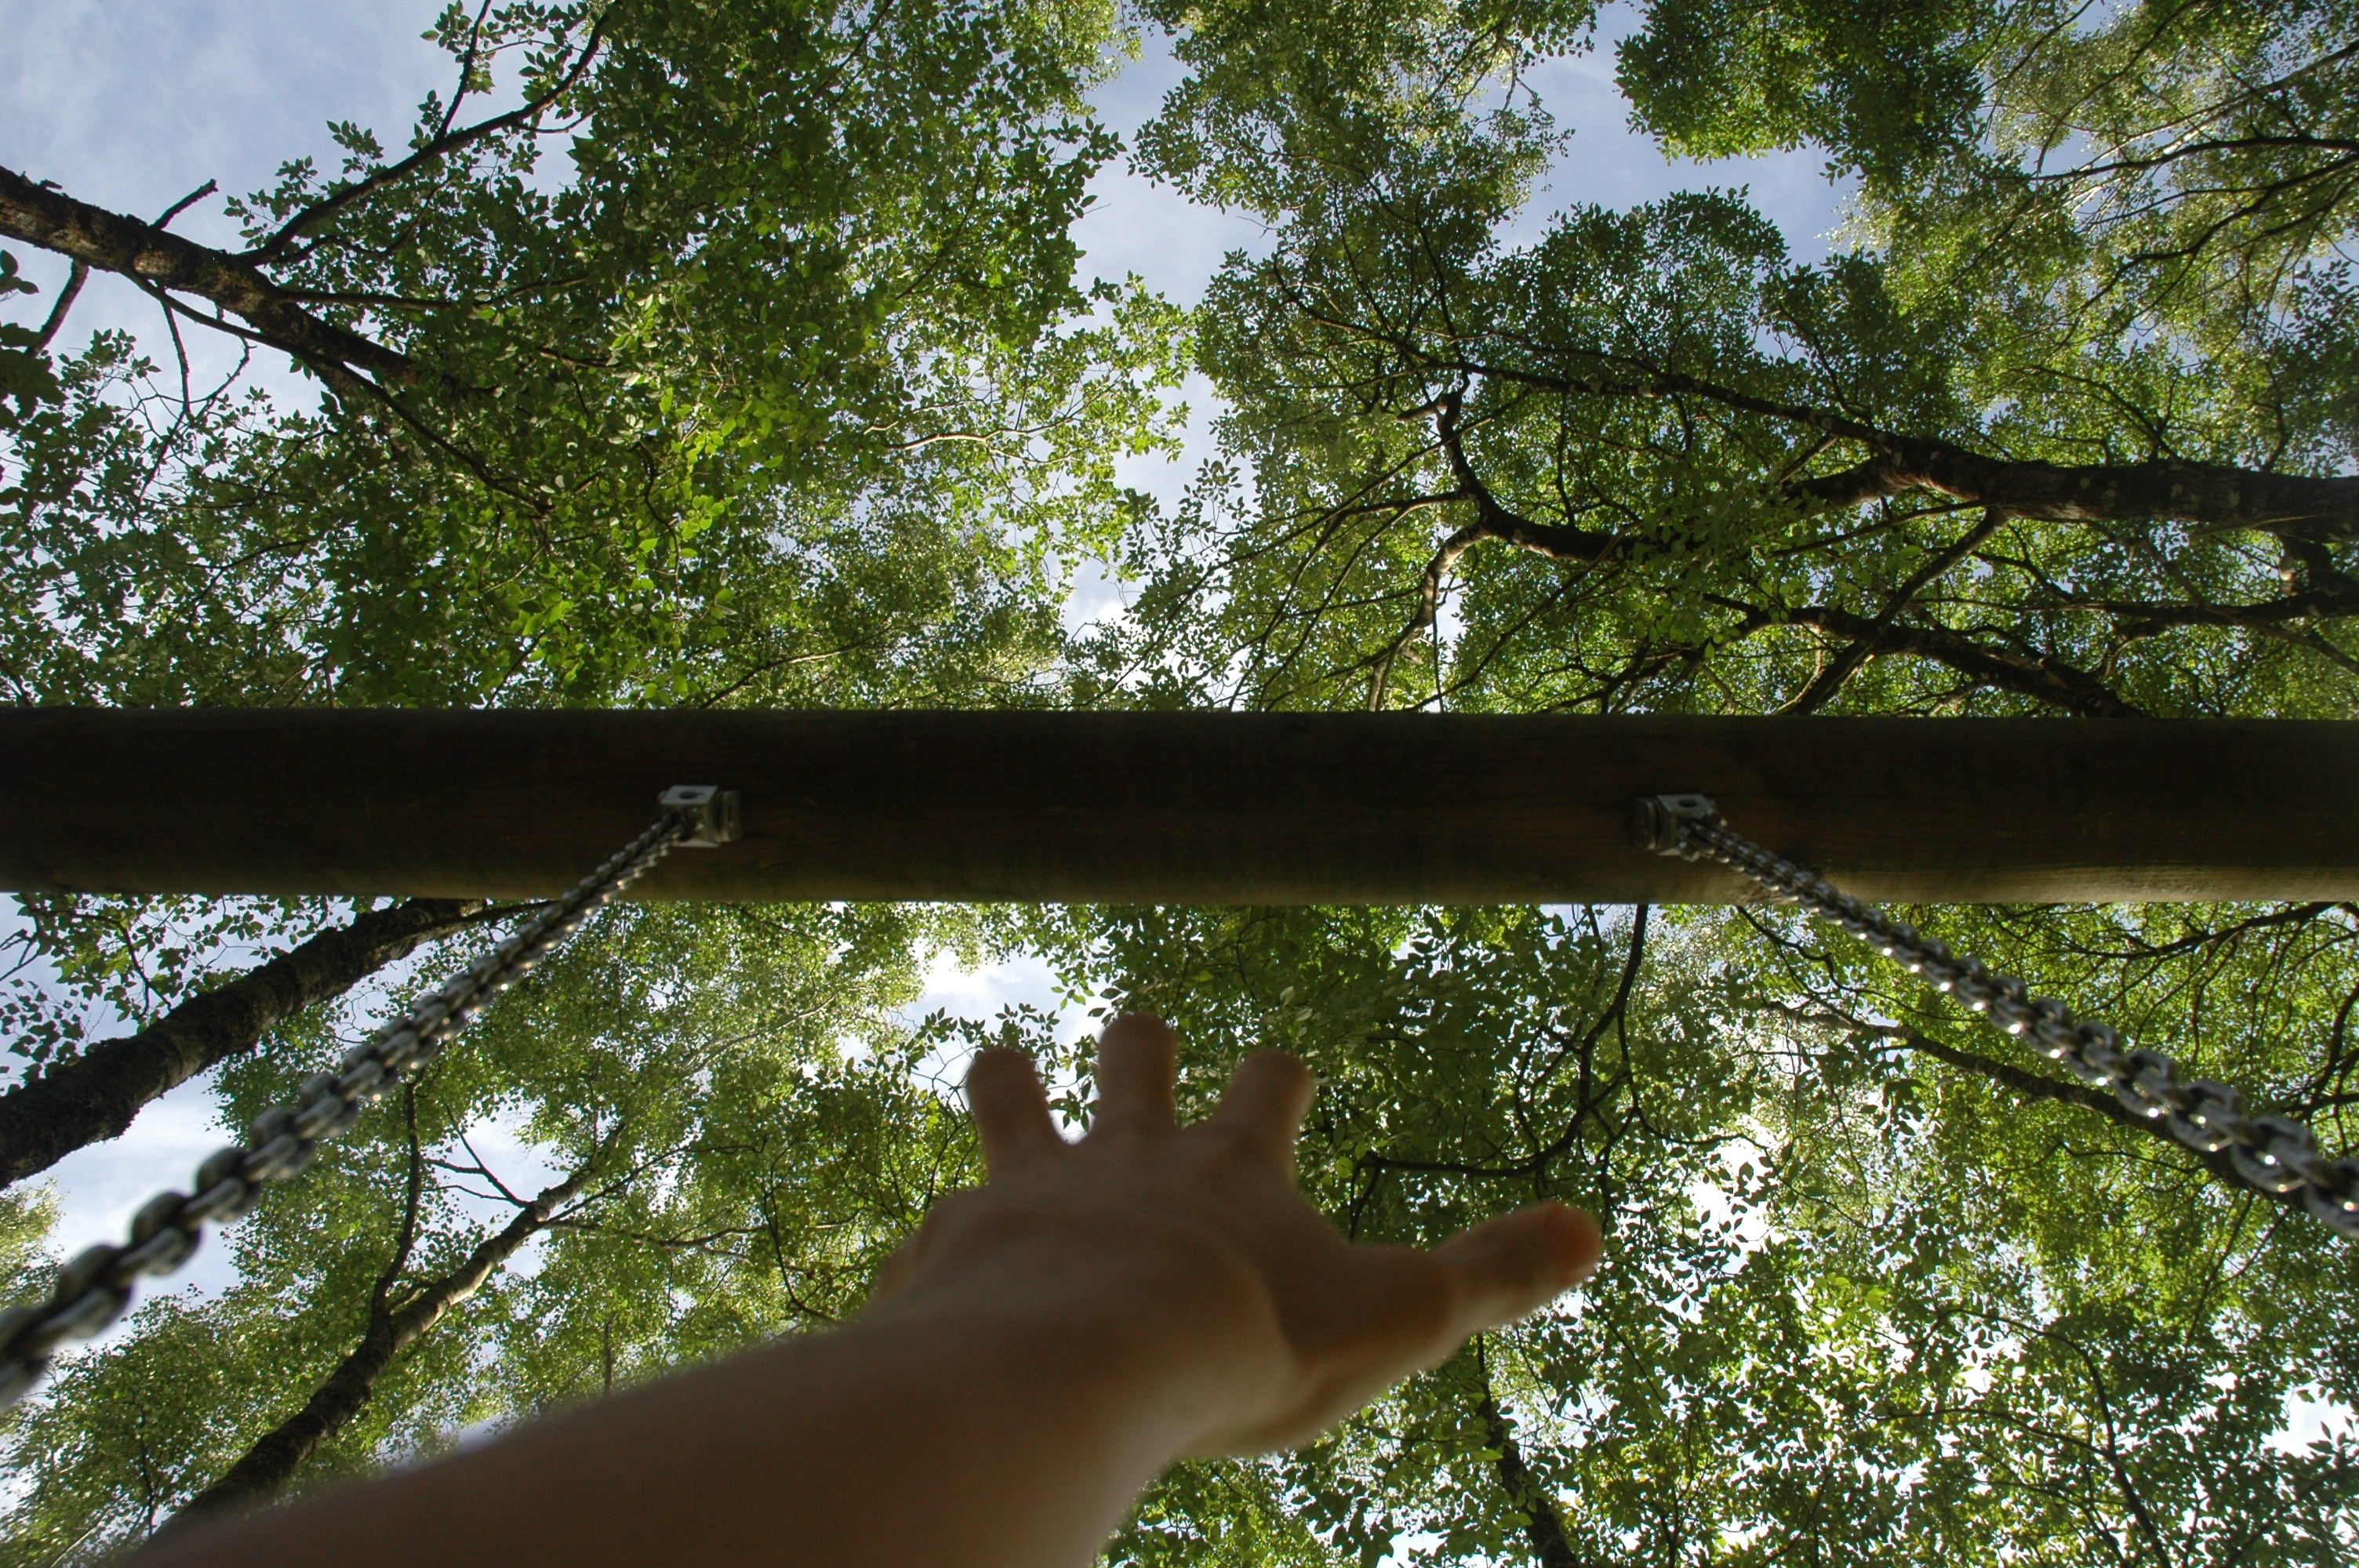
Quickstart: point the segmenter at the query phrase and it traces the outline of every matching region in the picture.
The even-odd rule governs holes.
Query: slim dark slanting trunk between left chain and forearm
[[[302,1462],[318,1452],[321,1443],[342,1431],[368,1405],[377,1379],[394,1365],[394,1358],[434,1327],[443,1313],[481,1290],[484,1280],[498,1273],[524,1243],[538,1236],[550,1224],[550,1214],[571,1200],[587,1179],[590,1167],[585,1162],[583,1170],[576,1170],[557,1186],[543,1188],[540,1195],[517,1210],[517,1217],[486,1236],[458,1269],[422,1285],[399,1309],[370,1313],[361,1342],[328,1372],[326,1382],[311,1389],[311,1398],[304,1401],[302,1410],[267,1431],[219,1481],[167,1518],[158,1535],[175,1535],[186,1523],[255,1507],[283,1493]]]

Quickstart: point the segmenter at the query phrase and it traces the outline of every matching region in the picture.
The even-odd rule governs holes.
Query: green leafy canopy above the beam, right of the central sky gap
[[[1654,28],[1701,50],[1713,14]],[[1710,42],[1760,45],[1755,21],[1783,26],[1748,9]],[[1878,83],[1911,47],[1826,26],[1875,52]],[[1970,42],[1941,61],[1977,80]],[[1687,59],[1640,45],[1625,75]],[[2033,52],[2010,90],[2062,94],[2048,73],[2076,61]],[[2246,80],[2182,64],[2203,101]],[[2253,94],[2293,113],[2279,99],[2309,75]],[[2123,106],[2109,134],[2163,137],[2187,94]],[[1703,151],[1779,141],[1706,85],[1656,97]],[[2137,257],[2163,238],[2137,224],[2194,222],[2192,184],[2066,191],[2003,158],[2017,130],[1960,174],[1927,130],[1906,170],[1871,170],[1871,243],[1800,264],[1734,191],[1524,212],[1529,116],[1371,134],[1288,101],[1272,123],[1319,156],[1201,321],[1229,462],[1135,535],[1161,613],[1111,663],[1246,705],[2347,710],[2347,215],[2295,243],[2239,205],[2206,219],[2203,266],[2156,271]],[[2097,132],[2033,139],[2069,134]]]

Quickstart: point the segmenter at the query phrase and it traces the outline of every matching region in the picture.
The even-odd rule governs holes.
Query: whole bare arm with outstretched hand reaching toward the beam
[[[979,1056],[991,1181],[934,1207],[845,1330],[191,1530],[142,1568],[1078,1568],[1172,1460],[1309,1441],[1597,1261],[1562,1205],[1434,1252],[1354,1247],[1295,1193],[1309,1073],[1248,1056],[1182,1129],[1172,1059],[1163,1023],[1111,1023],[1097,1118],[1066,1144],[1031,1063]]]

